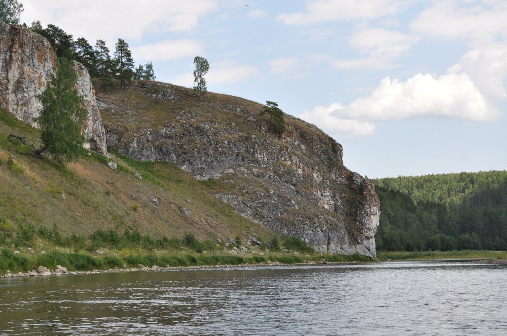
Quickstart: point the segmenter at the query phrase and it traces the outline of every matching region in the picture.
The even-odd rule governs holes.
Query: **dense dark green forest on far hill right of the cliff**
[[[378,250],[507,249],[507,171],[375,180]]]

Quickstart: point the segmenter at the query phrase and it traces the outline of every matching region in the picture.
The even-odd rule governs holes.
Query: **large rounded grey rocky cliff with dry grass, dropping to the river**
[[[174,162],[243,217],[317,250],[376,257],[379,200],[371,180],[343,165],[342,146],[285,115],[278,137],[262,105],[154,82],[100,94],[110,148]]]

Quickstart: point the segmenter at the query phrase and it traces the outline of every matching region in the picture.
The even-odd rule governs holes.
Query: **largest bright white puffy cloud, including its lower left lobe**
[[[466,56],[466,55],[465,55]],[[386,77],[364,98],[348,106],[333,103],[317,106],[299,117],[332,135],[368,135],[375,132],[375,121],[417,117],[450,117],[472,121],[493,121],[497,108],[488,103],[463,68],[438,78],[417,74],[407,81]]]

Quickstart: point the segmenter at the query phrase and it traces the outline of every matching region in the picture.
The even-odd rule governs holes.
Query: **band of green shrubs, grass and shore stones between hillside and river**
[[[16,228],[1,218],[0,246],[3,277],[372,260],[360,254],[318,253],[298,237],[274,235],[267,242],[251,237],[243,243],[237,236],[228,242],[213,242],[188,232],[182,238],[153,238],[129,229],[123,234],[98,229],[89,236],[62,236],[56,225],[52,229],[30,224]]]

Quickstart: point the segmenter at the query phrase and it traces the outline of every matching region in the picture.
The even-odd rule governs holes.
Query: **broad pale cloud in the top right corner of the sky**
[[[507,37],[507,3],[505,1],[438,1],[412,22],[415,31],[433,37],[460,38],[481,47],[496,38]],[[459,4],[459,6],[458,6]]]

